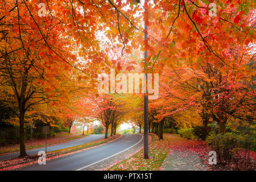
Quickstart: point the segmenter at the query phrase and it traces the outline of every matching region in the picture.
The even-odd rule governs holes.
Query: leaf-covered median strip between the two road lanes
[[[105,144],[107,142],[113,141],[114,139],[117,139],[119,136],[120,135],[114,135],[113,137],[109,137],[108,139],[100,139],[94,142],[81,144],[79,146],[63,148],[60,150],[47,152],[46,160],[56,159],[64,155],[70,155],[70,154],[74,154],[75,152],[88,150],[89,148],[98,146],[100,144]],[[4,160],[0,162],[0,170],[5,171],[5,170],[24,167],[30,164],[35,164],[38,161],[38,158],[39,158],[38,155],[30,155],[30,156],[26,156],[25,158],[14,158],[10,160]]]

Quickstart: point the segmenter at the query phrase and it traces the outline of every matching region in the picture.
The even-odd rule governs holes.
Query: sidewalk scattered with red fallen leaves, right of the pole
[[[192,143],[176,134],[164,134],[170,141],[170,151],[162,164],[164,171],[205,171],[208,167],[193,151]]]

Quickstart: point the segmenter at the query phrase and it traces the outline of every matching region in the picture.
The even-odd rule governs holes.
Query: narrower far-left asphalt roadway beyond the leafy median
[[[103,139],[103,138],[104,138],[104,135],[102,135],[102,134],[101,135],[90,135],[89,137],[73,140],[71,142],[65,142],[62,144],[56,144],[54,146],[49,146],[49,147],[47,147],[47,152],[53,151],[53,150],[60,150],[63,148],[68,148],[68,147],[73,147],[73,146],[79,146],[80,144],[94,142],[96,140]],[[42,150],[45,151],[45,148],[46,147],[41,147],[41,148],[36,148],[34,150],[28,150],[28,151],[26,151],[26,153],[28,155],[38,154],[39,151],[42,151]],[[1,155],[0,161],[16,158],[18,156],[19,156],[19,152],[16,152],[13,154]]]

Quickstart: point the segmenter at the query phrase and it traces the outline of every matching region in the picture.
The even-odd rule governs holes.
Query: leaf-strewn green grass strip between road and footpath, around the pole
[[[137,154],[130,158],[123,160],[115,166],[109,168],[110,171],[157,171],[166,158],[170,144],[167,140],[159,140],[157,135],[152,136],[152,142],[149,144],[150,159],[143,158],[144,150],[137,152]]]

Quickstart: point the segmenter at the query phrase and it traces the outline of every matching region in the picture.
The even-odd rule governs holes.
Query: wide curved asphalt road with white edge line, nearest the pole
[[[83,170],[98,162],[102,162],[113,155],[118,155],[124,150],[143,142],[142,135],[126,134],[108,144],[85,150],[61,158],[52,159],[46,162],[46,165],[33,164],[31,166],[19,168],[24,171],[68,171]]]

